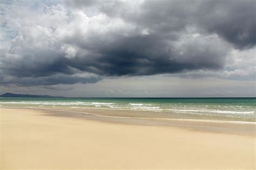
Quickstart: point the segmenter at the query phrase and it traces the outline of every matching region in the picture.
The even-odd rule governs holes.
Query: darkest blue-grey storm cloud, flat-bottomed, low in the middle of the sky
[[[77,57],[70,65],[103,76],[152,75],[223,67],[226,49],[219,44],[221,42],[214,42],[215,39],[211,38],[189,37],[187,40],[174,46],[175,43],[170,44],[153,35],[123,37],[98,46],[95,53],[99,56],[92,63],[87,63],[84,57]],[[215,50],[212,43],[219,49]]]

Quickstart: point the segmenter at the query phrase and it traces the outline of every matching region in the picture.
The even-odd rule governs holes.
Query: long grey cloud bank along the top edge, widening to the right
[[[72,1],[72,5],[88,7],[82,1]],[[256,43],[256,2],[253,0],[94,1],[92,5],[110,17],[123,18],[157,34],[166,35],[193,26],[197,31],[217,33],[239,49]]]

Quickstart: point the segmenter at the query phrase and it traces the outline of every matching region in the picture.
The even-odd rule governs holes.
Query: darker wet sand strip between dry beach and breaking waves
[[[256,124],[242,122],[242,124],[227,120],[205,120],[202,117],[193,115],[191,117],[180,118],[177,115],[161,117],[159,113],[156,118],[156,112],[150,111],[131,111],[131,110],[112,110],[95,108],[34,108],[39,111],[45,111],[50,116],[71,117],[87,120],[97,120],[108,123],[122,123],[129,125],[148,125],[148,126],[171,126],[186,128],[190,131],[227,133],[238,135],[255,136]],[[246,124],[248,123],[248,124]]]

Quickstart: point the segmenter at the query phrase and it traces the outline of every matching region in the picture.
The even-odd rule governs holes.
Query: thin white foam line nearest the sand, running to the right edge
[[[42,110],[46,110],[46,111],[63,111],[63,112],[72,112],[72,113],[84,113],[84,114],[91,114],[91,115],[96,115],[96,116],[99,116],[99,117],[108,117],[108,118],[146,119],[146,120],[172,120],[172,121],[194,121],[194,122],[206,122],[206,123],[223,123],[223,124],[227,123],[227,124],[256,125],[256,122],[252,122],[252,121],[118,117],[118,116],[114,116],[114,115],[100,115],[100,114],[87,113],[87,112],[79,112],[79,111],[52,110],[52,109],[46,109],[46,108],[43,108]]]

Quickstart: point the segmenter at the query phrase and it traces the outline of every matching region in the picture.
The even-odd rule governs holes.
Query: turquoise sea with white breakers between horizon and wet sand
[[[154,117],[255,122],[256,98],[0,98],[0,107],[151,112]]]

